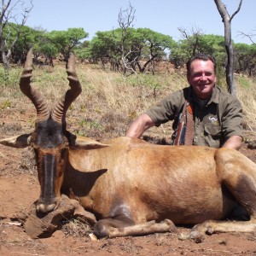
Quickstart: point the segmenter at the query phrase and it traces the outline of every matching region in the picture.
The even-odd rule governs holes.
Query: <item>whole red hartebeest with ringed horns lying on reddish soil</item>
[[[61,193],[79,201],[98,219],[98,237],[136,236],[174,230],[173,224],[196,224],[191,236],[206,232],[256,231],[256,164],[236,150],[161,146],[131,137],[105,144],[66,130],[66,113],[81,85],[71,55],[70,90],[50,109],[31,86],[32,50],[20,90],[37,109],[32,134],[0,143],[32,146],[41,194],[38,212],[54,211]],[[239,204],[248,221],[226,222]]]

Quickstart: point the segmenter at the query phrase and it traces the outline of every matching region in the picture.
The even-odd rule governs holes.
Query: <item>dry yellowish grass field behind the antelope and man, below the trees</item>
[[[20,69],[15,69],[13,73],[10,75],[13,78],[12,84],[1,86],[1,108],[9,108],[9,105],[18,107],[17,101],[25,99],[18,86]],[[78,64],[77,73],[83,92],[67,113],[68,129],[99,140],[125,135],[132,119],[154,106],[163,96],[187,85],[183,73],[172,71],[154,76],[139,74],[123,77],[120,73],[102,71],[96,66]],[[13,82],[15,79],[16,83]],[[36,67],[32,84],[43,92],[49,102],[55,103],[68,88],[64,64],[59,63],[54,68]],[[256,130],[255,89],[255,79],[236,76],[237,97],[243,106],[249,131]],[[27,107],[22,106],[20,111],[27,111]],[[28,121],[32,123],[31,119]],[[150,129],[145,135],[170,137],[170,129],[172,128],[167,123],[160,128]]]

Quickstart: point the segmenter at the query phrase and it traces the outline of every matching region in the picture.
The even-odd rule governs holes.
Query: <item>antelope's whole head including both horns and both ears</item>
[[[38,166],[38,180],[41,187],[38,200],[38,212],[51,212],[61,201],[61,184],[69,157],[69,147],[84,149],[104,148],[108,145],[93,140],[77,139],[66,130],[66,113],[72,102],[82,91],[75,72],[75,59],[71,54],[67,64],[67,79],[70,89],[50,108],[44,96],[31,85],[32,49],[26,56],[26,63],[20,78],[20,90],[32,101],[37,110],[36,129],[32,134],[23,134],[0,141],[1,144],[26,148],[32,146]],[[76,155],[73,156],[76,162]]]

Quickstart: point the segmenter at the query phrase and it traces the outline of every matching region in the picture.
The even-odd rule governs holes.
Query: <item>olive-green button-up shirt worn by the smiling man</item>
[[[174,120],[172,128],[175,130],[185,99],[193,104],[193,145],[220,148],[231,136],[243,137],[241,103],[218,86],[215,86],[211,99],[204,107],[201,107],[193,90],[186,87],[166,96],[146,113],[156,126]]]

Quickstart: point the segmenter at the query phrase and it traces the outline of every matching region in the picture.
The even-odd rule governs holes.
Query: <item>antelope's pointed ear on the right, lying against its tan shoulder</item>
[[[99,143],[88,137],[73,137],[70,141],[71,146],[79,149],[96,149],[109,147],[108,144]]]

